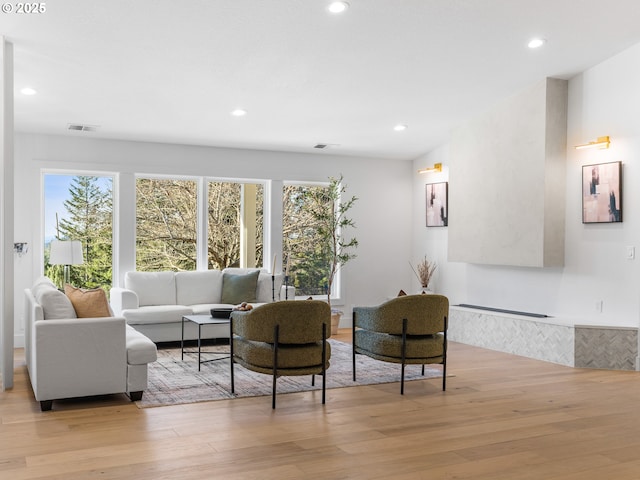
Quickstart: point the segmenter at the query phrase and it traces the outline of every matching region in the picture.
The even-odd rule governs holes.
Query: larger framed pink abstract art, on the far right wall
[[[582,167],[582,223],[622,222],[622,162]]]

